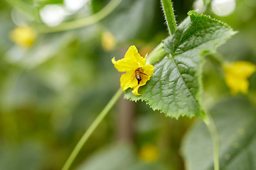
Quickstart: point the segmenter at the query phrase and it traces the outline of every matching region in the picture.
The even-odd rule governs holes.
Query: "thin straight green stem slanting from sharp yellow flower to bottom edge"
[[[65,162],[62,170],[68,170],[73,163],[75,157],[77,157],[78,153],[80,152],[80,149],[82,149],[82,146],[85,145],[85,142],[87,139],[92,135],[92,132],[97,128],[97,125],[101,123],[103,118],[105,118],[105,115],[110,111],[110,109],[114,106],[114,103],[117,102],[117,99],[122,95],[122,89],[120,88],[116,94],[111,98],[109,103],[107,103],[107,106],[102,110],[102,112],[97,116],[97,118],[93,121],[93,123],[90,125],[90,127],[85,131],[84,135],[82,135],[81,139],[79,140],[78,144],[73,149],[72,153],[70,154],[70,157],[68,157],[68,160]]]

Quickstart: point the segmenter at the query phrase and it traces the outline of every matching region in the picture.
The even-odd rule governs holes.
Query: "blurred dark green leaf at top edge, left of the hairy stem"
[[[145,37],[152,27],[156,3],[156,0],[123,0],[102,22],[117,42]]]

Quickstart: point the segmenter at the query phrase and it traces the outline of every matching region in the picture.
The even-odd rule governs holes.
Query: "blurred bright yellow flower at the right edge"
[[[231,94],[242,92],[246,94],[249,87],[248,77],[255,72],[256,67],[250,62],[225,63],[223,65],[225,72],[225,82],[230,88]]]

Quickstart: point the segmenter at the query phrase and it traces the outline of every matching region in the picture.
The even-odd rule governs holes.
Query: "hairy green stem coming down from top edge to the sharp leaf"
[[[164,8],[164,16],[166,18],[167,26],[170,32],[170,35],[174,34],[177,26],[174,17],[174,9],[171,4],[171,0],[162,0],[162,6]]]

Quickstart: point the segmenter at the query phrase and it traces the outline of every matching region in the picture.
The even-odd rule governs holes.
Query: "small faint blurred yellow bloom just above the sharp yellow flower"
[[[115,39],[112,33],[105,32],[102,34],[102,47],[103,47],[103,50],[107,52],[114,50]]]

